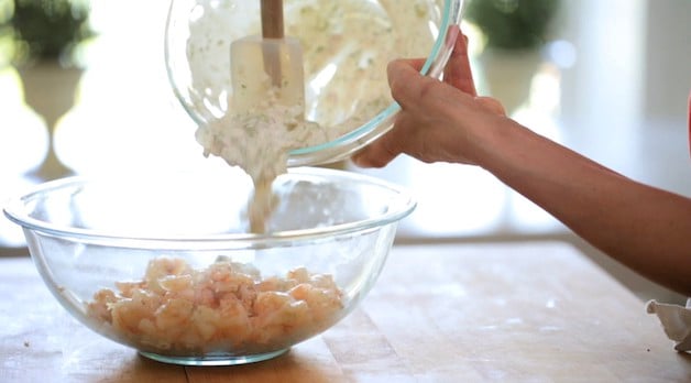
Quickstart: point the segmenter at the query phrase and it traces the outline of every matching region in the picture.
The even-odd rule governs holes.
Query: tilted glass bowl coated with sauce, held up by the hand
[[[299,40],[305,118],[326,131],[295,147],[288,166],[343,160],[393,125],[386,64],[426,57],[438,77],[458,34],[463,0],[285,0],[285,34]],[[165,34],[173,89],[198,125],[232,109],[233,41],[261,30],[260,1],[173,0]]]

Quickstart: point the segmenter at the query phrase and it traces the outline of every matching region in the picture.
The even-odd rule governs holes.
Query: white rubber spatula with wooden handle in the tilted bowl
[[[297,39],[284,35],[283,0],[261,0],[261,13],[262,35],[240,39],[230,46],[235,112],[267,101],[305,105],[303,51]]]

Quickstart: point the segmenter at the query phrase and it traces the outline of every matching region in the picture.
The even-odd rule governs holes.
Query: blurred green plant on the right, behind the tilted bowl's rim
[[[486,39],[485,46],[529,50],[545,44],[560,0],[470,0],[465,19]]]

